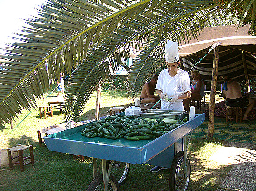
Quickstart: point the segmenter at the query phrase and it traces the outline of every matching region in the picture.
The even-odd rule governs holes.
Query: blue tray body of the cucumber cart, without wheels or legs
[[[132,164],[152,164],[170,168],[174,155],[183,150],[182,138],[205,120],[205,113],[172,129],[161,137],[130,141],[124,138],[86,138],[81,129],[86,124],[44,137],[50,151],[115,160]]]

